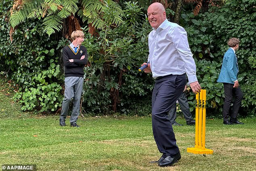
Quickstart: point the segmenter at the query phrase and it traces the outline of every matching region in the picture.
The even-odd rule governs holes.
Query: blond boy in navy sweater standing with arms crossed
[[[82,31],[73,31],[71,34],[72,43],[63,48],[62,58],[65,72],[65,97],[62,102],[60,126],[66,126],[65,119],[69,109],[69,103],[73,98],[73,109],[70,116],[70,126],[80,127],[76,124],[80,111],[80,99],[84,83],[84,66],[87,64],[87,49],[81,46],[84,41]]]

